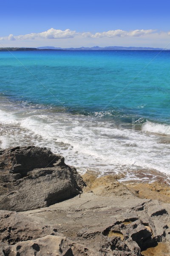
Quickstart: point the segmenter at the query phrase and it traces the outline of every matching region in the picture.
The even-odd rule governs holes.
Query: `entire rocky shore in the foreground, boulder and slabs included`
[[[0,151],[0,256],[168,256],[170,186],[81,177],[46,148]]]

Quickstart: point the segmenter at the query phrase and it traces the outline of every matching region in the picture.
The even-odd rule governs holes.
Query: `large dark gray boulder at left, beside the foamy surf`
[[[85,185],[64,157],[46,148],[0,151],[0,209],[26,211],[78,195]]]

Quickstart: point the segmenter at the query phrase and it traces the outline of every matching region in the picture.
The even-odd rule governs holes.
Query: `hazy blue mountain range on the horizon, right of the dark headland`
[[[79,48],[61,48],[53,46],[37,47],[37,49],[55,49],[55,50],[70,50],[70,51],[102,51],[102,50],[168,50],[163,48],[152,47],[123,47],[123,46],[107,46],[107,47],[79,47]]]

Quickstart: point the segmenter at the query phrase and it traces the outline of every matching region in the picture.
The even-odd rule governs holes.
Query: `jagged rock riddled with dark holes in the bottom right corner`
[[[156,204],[152,206],[156,207]],[[100,242],[100,252],[104,255],[140,256],[142,251],[158,246],[159,241],[169,241],[169,227],[165,227],[165,223],[170,218],[162,218],[161,223],[154,221],[153,216],[147,215],[148,209],[149,203],[144,203],[119,216],[119,221],[102,232],[106,239]]]

